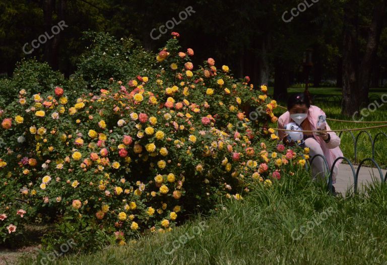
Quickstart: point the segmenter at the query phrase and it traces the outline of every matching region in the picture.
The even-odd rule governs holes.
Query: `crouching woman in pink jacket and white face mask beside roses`
[[[292,95],[288,100],[287,109],[288,111],[278,118],[279,129],[284,129],[286,124],[295,122],[301,127],[301,130],[315,131],[318,116],[325,115],[324,111],[320,108],[310,105],[310,99],[308,95],[304,93]],[[331,130],[328,124],[326,125],[326,130]],[[332,168],[332,164],[335,159],[343,156],[343,152],[339,147],[340,138],[336,135],[336,133],[330,132],[316,134],[305,132],[303,135],[303,139],[305,141],[304,147],[309,147],[310,158],[316,154],[325,156],[330,169]],[[280,140],[289,144],[287,137],[285,137],[287,136],[287,132],[278,131],[278,136],[280,137]],[[332,176],[333,183],[336,183],[336,175],[340,162],[341,160],[335,164]],[[327,172],[326,165],[321,157],[314,158],[311,167],[313,179],[316,179],[317,176],[324,177],[325,172]]]

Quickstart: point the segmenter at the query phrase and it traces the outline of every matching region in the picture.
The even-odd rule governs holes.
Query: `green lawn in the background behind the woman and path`
[[[303,89],[288,90],[289,94],[299,93],[303,91],[304,91]],[[269,92],[272,93],[273,90],[269,90]],[[341,96],[341,89],[328,88],[328,87],[321,87],[316,89],[312,88],[310,89],[310,93],[311,95],[316,95],[316,96]],[[381,95],[385,93],[387,93],[387,89],[371,89],[370,97],[372,98],[370,100],[370,103],[373,103],[375,101],[374,97],[378,97],[380,99]],[[318,100],[316,102],[313,102],[312,104],[324,110],[324,112],[327,114],[327,118],[352,121],[352,118],[344,117],[341,115],[341,106],[338,100],[336,102],[334,102],[333,98],[331,98],[330,100],[331,100],[330,102],[326,102],[326,101],[324,102],[324,101]],[[379,102],[379,104],[381,105],[382,103]],[[284,102],[280,102],[280,105],[286,107],[286,103]],[[284,112],[285,110],[278,108],[275,114],[277,115],[277,117],[279,117]],[[380,108],[377,108],[377,110],[374,112],[367,112],[367,113],[369,113],[369,115],[367,117],[363,117],[362,121],[387,121],[387,104],[383,104]],[[347,122],[336,122],[336,121],[328,121],[328,124],[331,127],[331,129],[352,129],[352,128],[364,128],[364,127],[381,125],[381,124],[347,123]],[[372,139],[374,139],[376,134],[379,132],[384,132],[387,134],[387,127],[377,128],[377,129],[366,129],[366,131],[369,132]],[[360,131],[353,131],[352,133],[356,138],[356,136],[360,133]],[[387,141],[387,138],[385,136],[379,135],[378,140],[376,141],[376,144],[375,144],[375,160],[382,168],[386,168],[387,166],[387,148],[385,148],[386,141]],[[351,134],[349,132],[343,132],[341,136],[340,148],[343,151],[344,156],[348,157],[352,162],[355,162],[354,146],[355,146],[355,143]],[[356,153],[357,153],[357,162],[360,162],[364,158],[372,157],[372,144],[367,134],[362,133],[359,136]],[[366,162],[366,164],[371,165],[371,162]]]

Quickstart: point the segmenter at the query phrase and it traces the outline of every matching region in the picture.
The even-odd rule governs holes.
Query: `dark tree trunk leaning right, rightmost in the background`
[[[387,0],[378,0],[373,10],[372,22],[369,27],[368,40],[365,54],[359,68],[359,91],[362,103],[368,104],[368,92],[371,82],[371,73],[376,58],[377,48],[380,42],[380,34],[383,26],[384,13]]]

